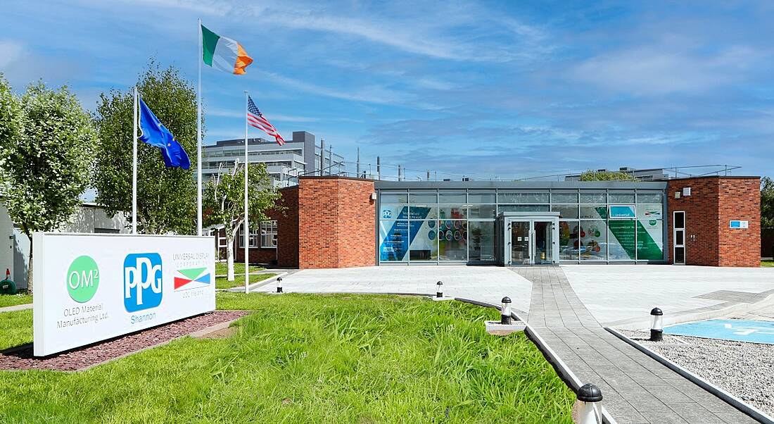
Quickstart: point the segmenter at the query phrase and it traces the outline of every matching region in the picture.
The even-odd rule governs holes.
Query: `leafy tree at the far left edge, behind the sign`
[[[91,117],[67,87],[39,82],[15,99],[0,81],[2,187],[11,219],[33,240],[70,220],[88,188],[97,133]],[[33,291],[30,243],[27,289]]]

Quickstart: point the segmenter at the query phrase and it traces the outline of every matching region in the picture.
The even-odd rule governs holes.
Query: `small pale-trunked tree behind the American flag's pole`
[[[276,191],[265,164],[251,164],[248,170],[248,212],[252,225],[267,219],[269,209],[283,209],[277,205]],[[245,166],[235,164],[231,170],[221,171],[204,187],[204,222],[208,226],[223,225],[226,232],[226,260],[228,281],[234,281],[234,239],[245,222]]]

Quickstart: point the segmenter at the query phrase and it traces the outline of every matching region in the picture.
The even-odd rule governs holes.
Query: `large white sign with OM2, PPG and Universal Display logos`
[[[46,356],[215,309],[214,238],[33,234],[33,338]]]

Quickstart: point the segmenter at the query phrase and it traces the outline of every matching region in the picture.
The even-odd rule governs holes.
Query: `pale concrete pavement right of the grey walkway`
[[[648,312],[665,323],[715,318],[774,304],[774,268],[671,265],[562,265],[577,297],[604,326],[647,329]]]

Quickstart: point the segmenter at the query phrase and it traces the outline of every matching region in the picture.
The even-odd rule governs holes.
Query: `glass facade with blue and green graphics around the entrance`
[[[559,212],[560,262],[663,260],[659,190],[382,190],[378,257],[388,263],[494,263],[497,214]]]

